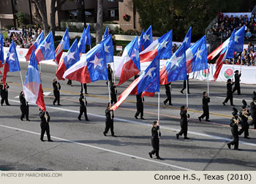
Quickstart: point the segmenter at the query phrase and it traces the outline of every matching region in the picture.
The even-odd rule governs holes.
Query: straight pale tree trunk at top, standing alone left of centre
[[[97,0],[96,43],[102,41],[103,0]]]

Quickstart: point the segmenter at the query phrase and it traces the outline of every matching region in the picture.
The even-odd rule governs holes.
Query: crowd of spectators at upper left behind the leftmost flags
[[[8,31],[7,38],[4,39],[4,47],[10,47],[12,40],[14,40],[17,48],[29,48],[41,32],[42,29],[37,26],[23,26],[22,31],[12,28],[12,30]]]

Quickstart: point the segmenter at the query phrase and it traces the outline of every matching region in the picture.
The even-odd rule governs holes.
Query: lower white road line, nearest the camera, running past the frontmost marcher
[[[4,125],[0,125],[0,126],[4,127],[4,128],[7,128],[7,129],[14,129],[14,130],[23,131],[23,132],[30,133],[30,134],[40,135],[39,133],[34,132],[34,131],[18,129],[18,128],[15,128],[15,127],[12,127],[12,126],[4,126]],[[46,135],[45,135],[45,137],[46,137]],[[170,166],[170,167],[173,167],[173,168],[176,168],[176,169],[181,169],[181,170],[185,170],[185,171],[192,171],[192,169],[188,169],[188,168],[185,168],[185,167],[182,167],[182,166],[176,166],[176,165],[173,165],[173,164],[167,164],[167,163],[164,163],[164,162],[161,162],[161,161],[154,161],[153,159],[151,160],[151,159],[143,158],[143,157],[140,157],[140,156],[133,156],[133,155],[130,155],[128,153],[122,153],[122,152],[118,152],[118,151],[115,151],[115,150],[109,150],[109,149],[106,149],[106,148],[97,147],[97,146],[94,146],[94,145],[88,145],[88,144],[85,144],[85,143],[81,143],[81,142],[77,142],[77,141],[72,141],[72,140],[69,140],[69,139],[63,139],[63,138],[60,138],[60,137],[53,137],[53,136],[51,136],[51,138],[59,139],[59,140],[64,141],[64,142],[71,142],[71,143],[74,143],[76,145],[82,145],[82,146],[86,146],[86,147],[91,147],[91,148],[94,148],[96,150],[104,150],[104,151],[107,151],[109,153],[116,153],[116,154],[121,155],[121,156],[127,156],[127,157],[130,157],[130,158],[138,158],[138,159],[140,159],[142,161],[148,161],[148,162],[152,162],[152,163],[155,163],[155,164],[161,164],[161,165],[164,165],[164,166]]]

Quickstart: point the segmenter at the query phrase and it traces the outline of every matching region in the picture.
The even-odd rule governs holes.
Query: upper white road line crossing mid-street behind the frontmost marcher
[[[12,101],[12,102],[15,102],[15,103],[20,103],[20,101],[16,101],[16,100],[12,100],[10,99],[9,101]],[[31,103],[29,103],[31,104]],[[35,105],[37,106],[36,104],[32,104],[32,105]],[[53,110],[61,110],[61,111],[66,111],[66,112],[73,112],[73,113],[77,113],[79,114],[80,112],[78,110],[69,110],[69,109],[64,109],[64,108],[61,108],[61,107],[50,107],[50,106],[45,106],[47,107],[48,109],[53,109]],[[104,118],[105,119],[105,115],[97,115],[97,114],[94,114],[94,113],[87,113],[87,115],[91,115],[91,116],[94,116],[94,117],[97,117],[97,118]],[[126,120],[126,119],[123,119],[123,118],[115,118],[115,120],[117,121],[121,121],[121,122],[126,122],[126,123],[133,123],[133,124],[137,124],[137,125],[141,125],[141,126],[152,126],[151,123],[143,123],[143,122],[139,122],[139,121],[135,121],[135,120]],[[161,126],[161,129],[166,129],[166,130],[170,130],[170,131],[180,131],[180,129],[174,129],[174,128],[171,128],[169,126]],[[199,133],[199,132],[195,132],[195,131],[188,131],[189,134],[194,134],[194,135],[197,135],[197,136],[201,136],[201,137],[210,137],[212,139],[219,139],[219,140],[222,140],[224,142],[226,141],[232,141],[233,139],[228,139],[226,137],[219,137],[219,136],[214,136],[214,135],[210,135],[210,134],[203,134],[203,133]],[[251,142],[245,142],[245,141],[239,141],[241,144],[244,144],[244,145],[251,145],[251,146],[255,146],[256,147],[256,144],[254,143],[251,143]]]

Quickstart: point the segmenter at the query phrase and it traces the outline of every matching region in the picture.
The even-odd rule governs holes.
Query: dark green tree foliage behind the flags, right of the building
[[[238,12],[241,0],[133,0],[140,14],[140,26],[152,26],[154,36],[173,29],[173,39],[181,41],[192,26],[192,41],[203,36],[218,12]]]

